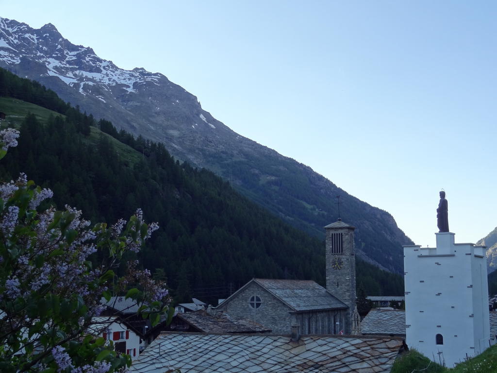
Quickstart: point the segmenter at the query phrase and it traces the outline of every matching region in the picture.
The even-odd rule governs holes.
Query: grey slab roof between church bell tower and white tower
[[[406,335],[406,311],[371,308],[361,322],[363,334]]]

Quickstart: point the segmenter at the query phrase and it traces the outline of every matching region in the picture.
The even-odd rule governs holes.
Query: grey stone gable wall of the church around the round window
[[[252,295],[260,298],[258,308],[252,308],[249,299]],[[232,299],[216,308],[231,317],[245,317],[253,320],[275,334],[290,334],[295,316],[290,314],[290,307],[255,282],[250,282],[247,287],[235,294]]]

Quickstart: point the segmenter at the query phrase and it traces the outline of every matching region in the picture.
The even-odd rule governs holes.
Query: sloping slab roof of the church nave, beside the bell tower
[[[297,312],[347,308],[345,303],[311,280],[253,280]]]

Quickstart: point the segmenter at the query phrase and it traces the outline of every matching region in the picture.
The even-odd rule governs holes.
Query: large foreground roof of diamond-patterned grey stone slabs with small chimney
[[[394,337],[163,333],[130,372],[387,373],[401,345]]]

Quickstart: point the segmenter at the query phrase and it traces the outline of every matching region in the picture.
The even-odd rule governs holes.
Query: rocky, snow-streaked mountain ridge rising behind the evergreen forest
[[[97,118],[160,141],[176,158],[208,168],[292,225],[323,235],[337,216],[357,227],[358,255],[402,272],[402,245],[412,241],[386,211],[349,195],[293,159],[238,135],[202,109],[193,94],[160,73],[131,71],[65,39],[52,24],[33,29],[0,18],[0,67],[36,80]],[[331,160],[332,162],[341,160]]]

